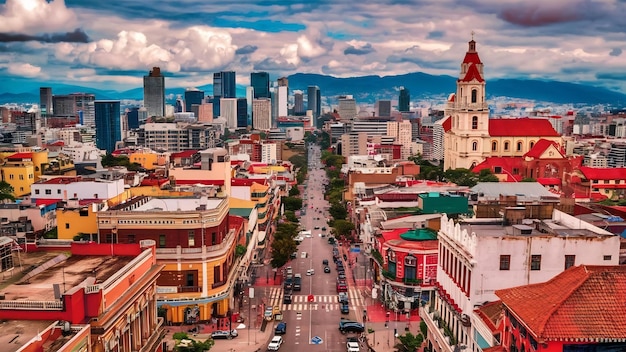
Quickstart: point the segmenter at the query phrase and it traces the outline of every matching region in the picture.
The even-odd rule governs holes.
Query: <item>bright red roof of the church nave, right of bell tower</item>
[[[490,119],[489,135],[492,137],[559,137],[546,119]]]

